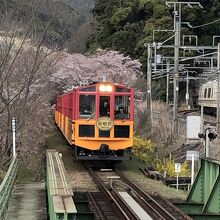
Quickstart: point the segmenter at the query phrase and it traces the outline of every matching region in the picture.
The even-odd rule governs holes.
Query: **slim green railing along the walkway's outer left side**
[[[6,216],[9,199],[11,196],[13,184],[16,178],[18,169],[17,156],[12,160],[11,165],[5,175],[4,180],[0,185],[0,219],[4,219]]]

